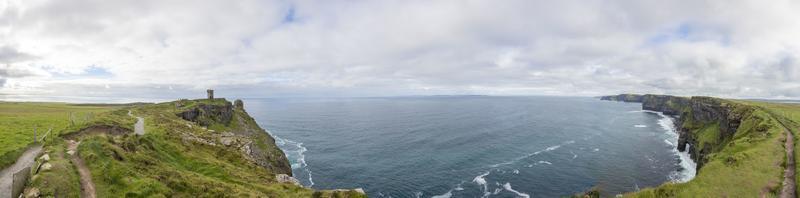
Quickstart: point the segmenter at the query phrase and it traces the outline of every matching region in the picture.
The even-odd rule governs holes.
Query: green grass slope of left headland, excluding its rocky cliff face
[[[145,118],[145,135],[79,136],[78,153],[92,172],[98,197],[364,197],[353,191],[315,192],[278,183],[272,172],[246,160],[235,149],[183,141],[182,133],[203,136],[220,131],[178,118],[175,113],[181,110],[174,103],[100,113],[83,127],[111,124],[130,128],[134,121],[126,115],[128,110]],[[239,126],[215,126],[221,131],[226,127]],[[77,171],[65,158],[65,142],[55,137],[45,146],[54,168],[32,182],[44,196],[80,195]]]

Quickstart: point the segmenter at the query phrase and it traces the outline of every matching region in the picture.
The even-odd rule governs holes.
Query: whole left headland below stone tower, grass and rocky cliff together
[[[47,168],[34,168],[26,194],[82,196],[78,164],[85,164],[98,197],[365,197],[356,190],[318,191],[278,181],[277,174],[291,175],[285,155],[241,106],[224,99],[116,107],[4,105],[31,115],[18,122],[63,128],[44,142],[49,159],[37,164]],[[67,113],[57,116],[78,110],[91,116],[75,124],[63,121]],[[144,135],[133,134],[136,119],[128,112],[144,118]]]

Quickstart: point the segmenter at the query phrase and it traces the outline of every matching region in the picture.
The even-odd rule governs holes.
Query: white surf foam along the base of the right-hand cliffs
[[[668,136],[667,139],[664,140],[664,142],[673,146],[672,152],[675,155],[677,155],[678,158],[680,159],[679,165],[681,166],[681,170],[676,170],[670,173],[669,176],[670,179],[679,183],[688,182],[689,180],[692,180],[694,176],[697,174],[696,170],[697,163],[695,163],[694,160],[692,160],[691,156],[689,155],[689,148],[691,147],[691,145],[689,144],[686,145],[685,152],[678,151],[677,144],[679,136],[678,136],[678,131],[675,129],[675,124],[673,123],[672,118],[657,111],[644,111],[644,112],[654,113],[657,114],[658,116],[661,116],[661,119],[658,120],[658,125],[661,125],[661,128],[667,132],[666,134]]]

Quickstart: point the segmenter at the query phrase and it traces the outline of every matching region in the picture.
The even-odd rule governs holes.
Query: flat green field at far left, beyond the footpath
[[[97,113],[110,109],[65,103],[0,102],[0,167],[14,163],[25,148],[33,143],[34,128],[40,138],[51,127],[52,133],[69,127],[72,124],[70,113],[76,124],[81,124],[94,119]]]

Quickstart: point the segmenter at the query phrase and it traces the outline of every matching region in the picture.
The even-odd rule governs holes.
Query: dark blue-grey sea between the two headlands
[[[245,108],[277,137],[295,177],[317,189],[558,197],[686,178],[664,127],[671,120],[635,103],[454,96],[251,99]]]

